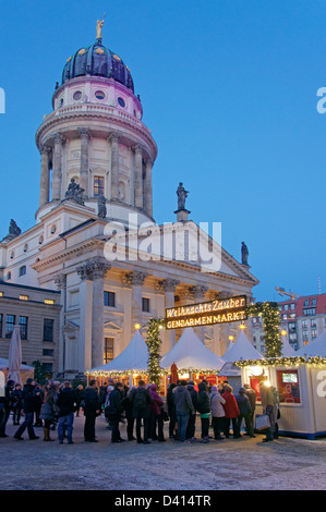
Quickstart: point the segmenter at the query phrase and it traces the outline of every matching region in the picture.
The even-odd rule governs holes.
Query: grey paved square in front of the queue
[[[17,427],[9,419],[0,439],[1,461],[10,472],[1,478],[1,490],[324,490],[326,489],[326,439],[279,438],[263,443],[263,435],[251,439],[212,440],[207,444],[167,442],[137,444],[110,442],[111,432],[101,416],[96,423],[98,443],[83,438],[84,416],[75,418],[74,444],[13,439]],[[210,430],[212,431],[212,430]],[[121,435],[125,436],[122,425]],[[200,419],[196,437],[200,439]]]

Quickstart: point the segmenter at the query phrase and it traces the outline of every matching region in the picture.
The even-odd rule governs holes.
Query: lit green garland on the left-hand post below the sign
[[[160,375],[162,373],[159,363],[160,363],[160,346],[161,339],[159,336],[159,329],[165,326],[165,320],[162,318],[150,318],[148,321],[148,330],[146,337],[146,343],[148,346],[148,374],[149,382],[156,383],[159,389],[160,385]]]

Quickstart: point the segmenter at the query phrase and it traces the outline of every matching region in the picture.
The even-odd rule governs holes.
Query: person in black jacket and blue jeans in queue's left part
[[[69,380],[63,382],[61,391],[59,393],[57,405],[59,407],[59,420],[58,420],[58,439],[59,443],[63,443],[63,432],[67,428],[67,441],[68,444],[73,444],[72,431],[74,422],[74,412],[76,410],[77,397],[75,391],[72,389]]]

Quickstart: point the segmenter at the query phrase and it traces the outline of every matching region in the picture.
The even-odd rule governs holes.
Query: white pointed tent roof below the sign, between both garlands
[[[173,363],[176,363],[178,367],[178,373],[182,370],[192,373],[197,373],[196,370],[216,373],[224,366],[225,361],[207,349],[195,334],[194,330],[189,327],[184,329],[176,345],[162,356],[160,367],[170,369]]]

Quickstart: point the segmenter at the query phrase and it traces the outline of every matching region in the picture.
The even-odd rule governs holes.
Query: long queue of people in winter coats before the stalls
[[[275,388],[262,390],[264,413],[270,418],[264,442],[277,437],[277,398]],[[85,442],[98,442],[96,418],[101,414],[107,420],[113,443],[136,441],[148,444],[157,440],[165,442],[164,425],[168,422],[170,439],[180,442],[208,443],[210,439],[221,440],[232,436],[255,437],[254,415],[256,393],[244,385],[233,393],[228,381],[212,387],[207,380],[180,380],[171,383],[164,399],[155,383],[143,380],[130,389],[122,382],[108,379],[98,388],[96,380],[76,388],[70,381],[49,381],[41,387],[28,378],[22,387],[9,380],[4,397],[0,397],[0,437],[8,437],[5,427],[12,414],[13,425],[17,426],[14,438],[23,440],[27,430],[29,439],[39,439],[35,427],[43,427],[44,440],[53,441],[53,431],[60,444],[72,444],[74,418],[84,414]],[[196,438],[196,417],[200,416],[200,439]],[[121,423],[126,424],[126,439],[121,436]],[[213,435],[209,435],[212,427]]]

